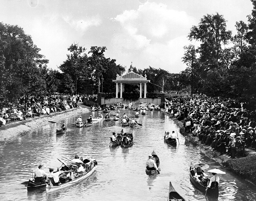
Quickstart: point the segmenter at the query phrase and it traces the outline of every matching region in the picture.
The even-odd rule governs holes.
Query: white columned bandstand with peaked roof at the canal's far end
[[[147,83],[150,82],[150,80],[147,80],[147,75],[145,74],[144,77],[134,73],[133,71],[124,74],[123,76],[120,76],[116,78],[116,80],[112,80],[116,83],[116,98],[118,98],[118,92],[120,92],[120,98],[123,98],[122,93],[124,90],[123,84],[135,84],[140,85],[140,98],[142,98],[142,85],[144,85],[144,97],[146,98],[147,94]]]

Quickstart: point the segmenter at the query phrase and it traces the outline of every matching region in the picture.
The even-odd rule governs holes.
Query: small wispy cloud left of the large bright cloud
[[[92,16],[91,18],[87,18],[86,20],[75,20],[72,19],[70,16],[63,16],[62,18],[72,28],[75,28],[77,32],[82,33],[86,32],[90,27],[99,26],[102,23],[101,19],[97,16]]]

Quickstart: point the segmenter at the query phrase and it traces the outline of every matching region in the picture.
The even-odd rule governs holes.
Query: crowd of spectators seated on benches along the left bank
[[[0,127],[11,121],[26,120],[26,117],[50,115],[53,112],[78,108],[79,96],[20,97],[10,103],[0,104]]]

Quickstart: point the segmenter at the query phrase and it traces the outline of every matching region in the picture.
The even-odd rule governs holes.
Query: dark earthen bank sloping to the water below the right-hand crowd
[[[168,115],[168,114],[166,114]],[[174,123],[176,123],[177,127],[180,128],[180,134],[185,136],[188,142],[192,143],[193,146],[199,148],[206,156],[214,159],[219,162],[221,165],[226,167],[228,170],[236,173],[243,179],[253,183],[256,185],[256,152],[251,149],[245,149],[245,157],[238,157],[236,159],[227,158],[226,155],[220,155],[217,151],[211,151],[210,146],[205,146],[202,144],[197,137],[192,136],[191,133],[185,132],[185,128],[183,126],[184,120],[177,120],[174,117]]]

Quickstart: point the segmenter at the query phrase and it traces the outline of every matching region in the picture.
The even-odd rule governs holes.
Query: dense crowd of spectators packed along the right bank
[[[201,95],[173,98],[164,107],[173,117],[184,120],[185,132],[220,155],[235,158],[244,155],[244,148],[256,148],[256,110],[248,110],[247,103]]]

